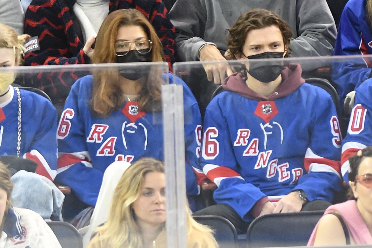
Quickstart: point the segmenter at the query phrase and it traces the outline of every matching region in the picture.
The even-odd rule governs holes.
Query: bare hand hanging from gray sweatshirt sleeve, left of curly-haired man
[[[208,81],[213,81],[215,84],[221,84],[224,79],[232,74],[230,65],[222,56],[216,46],[206,45],[199,52],[200,61],[222,61],[218,64],[203,64],[207,74]]]

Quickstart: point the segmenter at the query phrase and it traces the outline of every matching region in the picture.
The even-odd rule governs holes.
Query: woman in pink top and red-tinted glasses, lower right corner
[[[349,162],[350,200],[328,207],[308,245],[372,245],[372,146]]]

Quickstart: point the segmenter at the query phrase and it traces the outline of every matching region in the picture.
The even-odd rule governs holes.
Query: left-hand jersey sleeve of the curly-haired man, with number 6
[[[239,165],[230,140],[228,123],[216,102],[216,98],[213,99],[205,112],[201,166],[207,178],[218,186],[214,191],[214,200],[230,205],[244,221],[251,221],[248,212],[266,195],[238,173]]]

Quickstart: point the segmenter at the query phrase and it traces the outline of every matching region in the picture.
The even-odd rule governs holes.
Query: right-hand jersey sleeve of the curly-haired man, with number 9
[[[323,90],[322,90],[323,91]],[[328,93],[318,94],[314,120],[310,130],[310,144],[304,158],[306,173],[293,190],[303,190],[307,198],[331,202],[341,190],[340,155],[341,133],[336,108]]]

